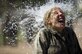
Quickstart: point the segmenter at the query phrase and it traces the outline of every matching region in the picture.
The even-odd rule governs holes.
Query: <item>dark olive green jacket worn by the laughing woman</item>
[[[66,27],[62,32],[42,28],[35,40],[36,54],[81,54],[74,31]]]

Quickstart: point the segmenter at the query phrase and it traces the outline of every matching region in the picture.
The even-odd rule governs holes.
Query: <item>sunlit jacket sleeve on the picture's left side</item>
[[[47,42],[42,30],[38,32],[35,38],[36,54],[47,54]]]

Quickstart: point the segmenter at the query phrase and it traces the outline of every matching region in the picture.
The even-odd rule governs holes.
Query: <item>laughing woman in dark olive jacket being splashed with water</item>
[[[65,15],[59,7],[46,12],[44,25],[36,36],[36,54],[81,54],[76,35],[65,27]]]

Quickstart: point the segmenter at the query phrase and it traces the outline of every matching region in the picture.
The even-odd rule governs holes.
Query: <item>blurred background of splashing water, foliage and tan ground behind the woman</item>
[[[82,49],[82,0],[0,0],[0,54],[33,54],[43,16],[54,6],[66,14]]]

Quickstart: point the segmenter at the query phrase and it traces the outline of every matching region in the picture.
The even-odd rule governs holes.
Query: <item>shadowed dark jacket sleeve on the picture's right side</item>
[[[77,39],[77,36],[75,34],[75,32],[73,31],[73,29],[69,29],[69,44],[70,45],[70,54],[81,54],[81,48],[79,46],[79,42]]]

